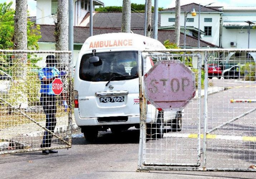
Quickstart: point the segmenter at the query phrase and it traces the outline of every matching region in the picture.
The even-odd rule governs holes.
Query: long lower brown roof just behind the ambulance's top
[[[39,42],[52,42],[55,43],[54,38],[54,25],[40,25],[40,32],[42,37],[39,39]],[[98,34],[107,34],[107,33],[119,33],[121,32],[120,28],[94,28],[93,35]],[[135,34],[144,34],[142,29],[132,30]],[[90,29],[88,27],[74,26],[74,43],[83,44],[85,40],[90,37]],[[180,46],[183,46],[184,34],[180,33]],[[158,30],[158,40],[161,43],[164,43],[165,40],[170,40],[170,42],[175,42],[174,40],[174,30]],[[201,47],[217,47],[214,44],[208,43],[204,40],[201,40]],[[186,46],[191,48],[197,48],[197,38],[194,38],[190,35],[186,37]]]

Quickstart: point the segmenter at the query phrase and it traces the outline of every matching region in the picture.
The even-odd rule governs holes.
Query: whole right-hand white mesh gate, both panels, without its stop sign
[[[196,95],[183,110],[155,115],[148,110],[145,75],[144,82],[139,76],[138,169],[256,171],[256,50],[174,49],[142,56],[156,64],[184,63],[195,74]]]

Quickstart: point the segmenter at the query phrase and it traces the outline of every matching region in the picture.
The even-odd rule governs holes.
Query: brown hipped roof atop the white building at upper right
[[[219,10],[219,8],[222,7],[218,7],[218,6],[207,6],[207,7],[203,7],[204,5],[200,5],[200,11],[201,12],[221,12],[221,10]],[[190,12],[193,10],[193,8],[195,9],[195,11],[199,11],[199,4],[197,3],[190,3],[190,4],[185,4],[183,6],[180,6],[180,11],[181,12]],[[162,12],[175,12],[175,7],[174,8],[168,8],[168,9],[164,9],[161,10],[160,13]]]

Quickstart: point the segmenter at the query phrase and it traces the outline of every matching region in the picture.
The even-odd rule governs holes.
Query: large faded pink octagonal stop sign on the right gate
[[[195,96],[194,73],[179,60],[158,61],[145,75],[145,97],[164,111],[182,110]]]

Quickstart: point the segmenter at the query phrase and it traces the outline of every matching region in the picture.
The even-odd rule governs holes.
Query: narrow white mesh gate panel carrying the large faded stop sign
[[[149,113],[150,105],[146,107],[146,99],[142,100],[139,169],[164,169],[166,166],[199,166],[201,163],[201,143],[200,135],[197,134],[200,134],[201,129],[201,90],[199,90],[201,89],[202,77],[201,68],[199,68],[201,67],[201,55],[180,52],[148,52],[143,53],[142,56],[144,59],[144,74],[146,73],[145,60],[148,60],[148,58],[154,62],[180,60],[195,73],[197,95],[182,111],[163,112],[157,110]],[[140,95],[142,96],[142,90]],[[163,121],[160,121],[159,118],[163,118]],[[160,130],[163,127],[164,134],[161,136]],[[187,135],[188,130],[190,133],[193,131],[196,136],[190,139],[179,137]],[[161,137],[163,138],[161,139]]]

